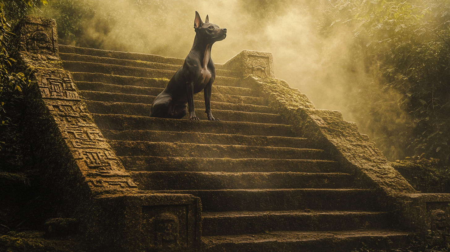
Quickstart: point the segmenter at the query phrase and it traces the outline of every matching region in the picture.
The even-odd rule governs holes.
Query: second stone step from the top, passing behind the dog
[[[97,57],[91,55],[80,55],[80,54],[64,54],[60,53],[59,57],[61,60],[66,62],[89,62],[89,63],[102,63],[110,65],[119,65],[127,67],[143,67],[151,69],[160,70],[171,70],[177,71],[182,65],[171,65],[164,63],[148,62],[142,60],[130,60],[130,59],[117,59],[117,58],[107,58],[107,57]],[[228,76],[234,77],[229,70],[216,69],[216,76]]]

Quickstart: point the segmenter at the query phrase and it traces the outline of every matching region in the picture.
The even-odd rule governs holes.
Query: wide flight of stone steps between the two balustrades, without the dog
[[[207,121],[149,117],[184,59],[59,46],[64,68],[140,190],[202,202],[203,251],[350,251],[405,241],[376,192],[216,64]],[[375,245],[378,244],[379,245]]]

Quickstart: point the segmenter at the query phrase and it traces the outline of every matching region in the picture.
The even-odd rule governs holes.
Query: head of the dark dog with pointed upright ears
[[[198,12],[195,12],[194,29],[195,33],[207,43],[224,40],[226,37],[226,28],[220,29],[218,25],[209,23],[208,15],[203,23]]]

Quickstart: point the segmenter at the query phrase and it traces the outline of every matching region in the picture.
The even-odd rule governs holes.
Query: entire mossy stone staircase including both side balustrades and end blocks
[[[203,251],[348,251],[404,241],[386,229],[446,230],[449,197],[417,194],[355,123],[274,79],[270,53],[216,64],[211,108],[225,121],[152,118],[183,59],[54,46],[55,31],[18,26],[36,81],[27,129],[46,217],[76,218],[89,251],[199,250],[200,199]]]

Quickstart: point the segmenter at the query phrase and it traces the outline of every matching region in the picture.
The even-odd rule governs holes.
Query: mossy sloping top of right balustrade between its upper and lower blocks
[[[304,137],[326,146],[347,172],[368,181],[386,195],[415,192],[375,143],[367,135],[361,135],[355,123],[345,121],[341,112],[314,108],[305,95],[289,88],[284,81],[254,75],[246,80],[249,87],[266,94],[270,105]]]

